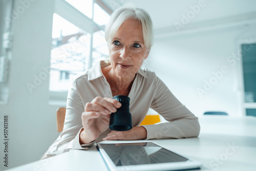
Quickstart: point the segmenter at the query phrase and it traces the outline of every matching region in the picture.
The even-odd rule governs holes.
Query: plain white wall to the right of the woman
[[[173,94],[195,115],[206,111],[224,111],[230,116],[242,116],[241,60],[233,65],[227,61],[238,53],[237,41],[255,38],[255,24],[228,29],[215,29],[156,36],[155,45],[145,66],[165,82]],[[214,79],[212,72],[226,66],[227,73],[207,93],[204,80]],[[226,71],[225,70],[225,71]]]

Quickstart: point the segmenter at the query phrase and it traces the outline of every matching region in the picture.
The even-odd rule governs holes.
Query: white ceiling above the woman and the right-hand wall
[[[198,5],[203,0],[102,0],[112,9],[132,2],[136,7],[145,9],[150,13],[154,28],[174,27],[174,22],[181,23],[182,14],[191,11],[190,6]],[[205,7],[190,19],[190,23],[206,22],[212,19],[238,16],[247,13],[256,14],[255,0],[205,0]],[[255,15],[256,16],[256,15]]]

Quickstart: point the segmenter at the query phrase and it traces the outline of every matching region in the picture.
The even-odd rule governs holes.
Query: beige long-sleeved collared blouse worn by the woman
[[[101,71],[101,67],[105,66],[108,65],[100,61],[73,80],[72,88],[68,93],[63,131],[45,155],[53,156],[73,149],[88,149],[110,133],[111,130],[108,129],[101,133],[95,142],[79,144],[84,105],[96,96],[113,97],[110,85]],[[140,69],[136,74],[129,97],[133,126],[140,125],[149,108],[154,109],[168,121],[144,125],[147,130],[147,139],[188,138],[199,135],[198,118],[180,103],[154,72]]]

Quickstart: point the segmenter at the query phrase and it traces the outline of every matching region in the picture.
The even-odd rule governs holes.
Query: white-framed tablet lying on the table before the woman
[[[99,142],[97,148],[110,170],[181,170],[202,164],[151,141]]]

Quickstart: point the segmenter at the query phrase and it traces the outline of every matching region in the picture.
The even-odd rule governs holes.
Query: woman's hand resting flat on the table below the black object
[[[143,126],[133,127],[129,131],[111,131],[105,138],[102,140],[139,140],[146,139],[147,131]]]

